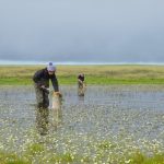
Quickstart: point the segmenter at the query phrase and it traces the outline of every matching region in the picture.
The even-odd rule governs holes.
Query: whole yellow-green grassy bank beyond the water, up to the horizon
[[[32,84],[43,66],[1,66],[0,84]],[[164,84],[164,66],[58,66],[60,84],[77,84],[83,72],[87,84]]]

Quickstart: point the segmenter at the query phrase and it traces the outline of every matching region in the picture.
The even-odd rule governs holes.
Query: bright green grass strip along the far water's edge
[[[77,84],[75,77],[58,77],[59,84]],[[31,85],[31,78],[1,78],[0,85]],[[105,77],[86,77],[86,84],[164,84],[164,79],[112,79]]]

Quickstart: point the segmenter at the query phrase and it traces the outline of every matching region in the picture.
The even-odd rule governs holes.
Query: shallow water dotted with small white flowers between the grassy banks
[[[48,147],[55,142],[54,137],[60,145],[56,145],[58,151],[63,151],[61,144],[68,138],[79,151],[86,142],[110,139],[126,143],[130,138],[128,143],[141,150],[151,151],[143,141],[155,142],[164,150],[163,85],[87,86],[84,97],[77,95],[77,86],[61,86],[61,92],[62,124],[57,129],[51,126],[49,109]],[[0,86],[0,148],[20,150],[34,140],[36,122],[34,89]]]

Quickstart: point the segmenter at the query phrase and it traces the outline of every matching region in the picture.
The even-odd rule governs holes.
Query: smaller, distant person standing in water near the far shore
[[[78,94],[79,96],[84,96],[84,89],[85,89],[85,84],[84,84],[84,74],[81,73],[78,75]]]

